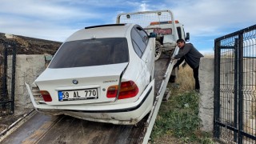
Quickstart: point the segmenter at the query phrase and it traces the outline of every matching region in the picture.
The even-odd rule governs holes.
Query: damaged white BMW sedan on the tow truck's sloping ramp
[[[154,39],[135,24],[78,30],[63,42],[33,90],[26,84],[35,109],[136,124],[153,106]]]

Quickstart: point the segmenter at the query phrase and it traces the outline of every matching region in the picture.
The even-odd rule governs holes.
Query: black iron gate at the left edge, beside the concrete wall
[[[14,114],[16,45],[0,39],[0,116]]]

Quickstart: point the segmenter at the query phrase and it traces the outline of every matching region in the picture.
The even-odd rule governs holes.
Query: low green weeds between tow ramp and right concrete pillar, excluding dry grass
[[[210,143],[209,134],[198,132],[201,122],[198,117],[198,99],[198,93],[190,91],[172,97],[169,102],[162,103],[163,106],[159,110],[151,135],[152,140],[169,133],[185,143]]]

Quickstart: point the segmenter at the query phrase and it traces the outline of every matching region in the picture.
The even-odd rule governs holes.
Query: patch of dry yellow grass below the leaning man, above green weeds
[[[180,92],[194,90],[194,76],[190,66],[179,67],[176,83],[179,85]]]

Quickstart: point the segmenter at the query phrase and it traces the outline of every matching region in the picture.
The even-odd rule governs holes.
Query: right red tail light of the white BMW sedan
[[[115,98],[118,93],[118,85],[107,89],[106,97]],[[121,82],[118,99],[133,98],[138,94],[138,86],[133,81]]]

